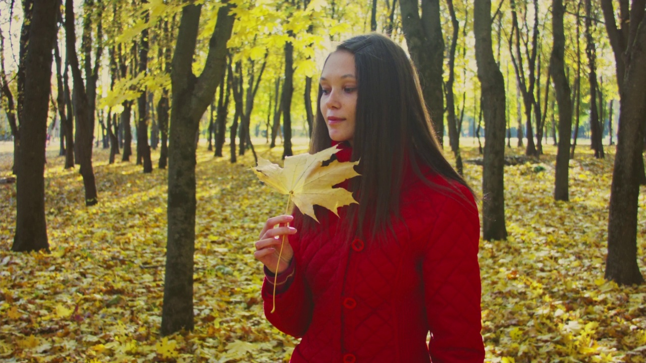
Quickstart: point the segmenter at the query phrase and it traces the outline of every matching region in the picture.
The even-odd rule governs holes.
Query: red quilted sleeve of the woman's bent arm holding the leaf
[[[276,329],[297,338],[307,331],[314,307],[311,291],[299,269],[297,258],[294,256],[287,270],[277,276],[276,310],[273,313],[271,310],[274,307],[274,276],[268,270],[265,270],[265,280],[262,284],[262,299],[267,320]]]

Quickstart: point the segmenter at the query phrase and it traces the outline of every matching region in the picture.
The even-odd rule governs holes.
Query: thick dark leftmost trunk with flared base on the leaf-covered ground
[[[45,141],[56,39],[57,0],[34,1],[24,58],[25,96],[21,112],[20,165],[16,180],[16,234],[12,251],[49,250],[45,220]],[[21,59],[21,63],[23,59]]]

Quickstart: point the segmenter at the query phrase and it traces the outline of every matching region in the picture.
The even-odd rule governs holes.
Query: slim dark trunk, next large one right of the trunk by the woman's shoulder
[[[570,84],[565,76],[565,31],[563,29],[563,0],[552,0],[552,36],[554,45],[550,56],[550,73],[559,103],[559,143],[556,151],[554,200],[569,200],[568,174],[570,163],[570,134],[572,134],[572,100]]]

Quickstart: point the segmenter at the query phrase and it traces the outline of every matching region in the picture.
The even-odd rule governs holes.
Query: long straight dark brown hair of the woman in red
[[[348,208],[343,222],[349,238],[380,240],[392,231],[391,221],[399,218],[399,194],[407,167],[424,183],[466,202],[457,188],[433,184],[422,174],[425,165],[423,169],[472,192],[443,156],[422,98],[417,70],[404,50],[390,38],[371,33],[344,41],[336,51],[354,55],[358,82],[351,160],[360,160],[361,176],[354,178],[349,188],[359,201],[358,206]],[[321,95],[319,85],[310,152],[331,146],[320,111]],[[309,219],[304,220],[306,229],[313,227]]]

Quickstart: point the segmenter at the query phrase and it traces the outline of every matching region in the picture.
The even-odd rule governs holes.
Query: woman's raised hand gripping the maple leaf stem
[[[269,218],[260,232],[260,239],[256,241],[256,252],[253,253],[253,256],[265,264],[272,273],[279,274],[285,271],[294,256],[294,250],[287,240],[288,234],[296,233],[295,228],[289,227],[289,222],[293,219],[293,216],[287,215]],[[280,226],[275,228],[276,225]],[[280,264],[278,264],[278,253],[280,253],[280,244],[283,241]],[[278,268],[276,269],[276,267]]]

